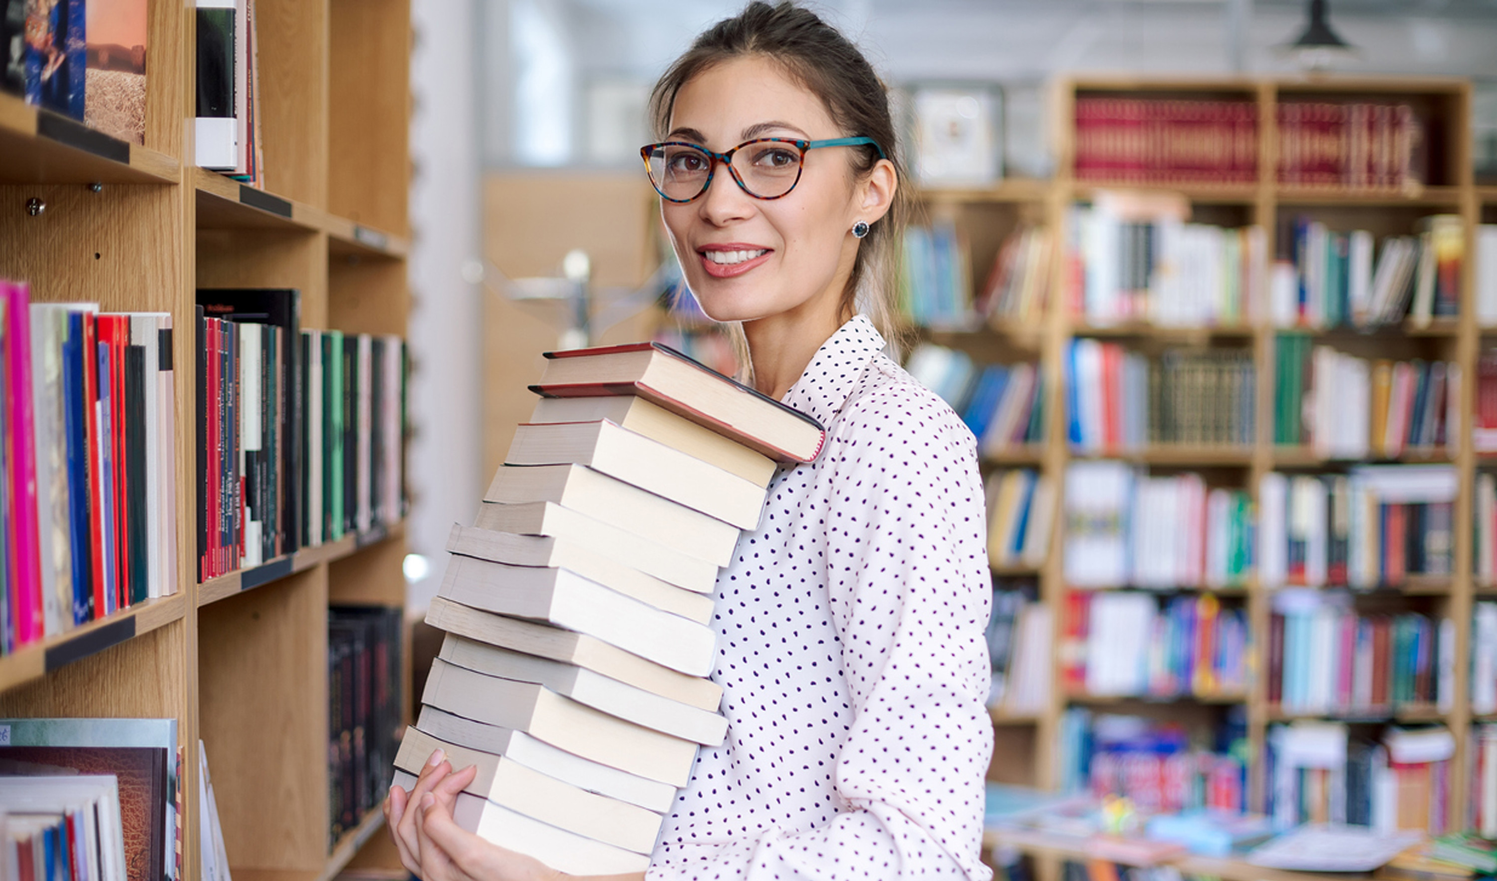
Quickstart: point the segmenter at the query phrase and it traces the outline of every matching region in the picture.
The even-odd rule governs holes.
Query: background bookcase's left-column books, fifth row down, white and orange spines
[[[1060,632],[1067,691],[1246,700],[1247,611],[1211,593],[1072,590]]]

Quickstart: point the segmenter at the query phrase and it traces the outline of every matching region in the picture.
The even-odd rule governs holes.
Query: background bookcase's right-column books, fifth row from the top
[[[1455,622],[1358,613],[1344,592],[1286,589],[1269,619],[1268,703],[1290,715],[1386,716],[1455,700]]]

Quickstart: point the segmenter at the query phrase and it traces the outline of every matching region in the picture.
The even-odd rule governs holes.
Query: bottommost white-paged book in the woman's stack
[[[410,788],[416,779],[397,770],[395,784]],[[650,857],[645,854],[615,848],[575,832],[531,820],[524,814],[516,814],[488,799],[467,793],[458,793],[457,805],[452,808],[452,820],[458,827],[484,841],[534,857],[567,875],[626,875],[650,868]]]

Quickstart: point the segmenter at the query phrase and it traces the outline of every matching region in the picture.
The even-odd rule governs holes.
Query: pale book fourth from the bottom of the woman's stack
[[[564,698],[533,682],[494,679],[431,662],[421,703],[487,725],[515,728],[557,749],[672,787],[692,778],[696,745]],[[430,755],[430,754],[428,754]]]

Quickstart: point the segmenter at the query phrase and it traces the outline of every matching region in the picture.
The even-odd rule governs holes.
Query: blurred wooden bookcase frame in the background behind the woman
[[[1257,114],[1257,172],[1254,180],[1232,184],[1142,184],[1111,183],[1106,180],[1078,180],[1076,174],[1076,124],[1075,106],[1078,96],[1094,97],[1165,97],[1195,100],[1238,100],[1256,106]],[[975,285],[984,285],[998,253],[1000,243],[1021,225],[1042,225],[1052,234],[1052,241],[1066,241],[1069,208],[1076,202],[1090,201],[1099,190],[1145,190],[1168,192],[1184,196],[1190,205],[1190,220],[1228,228],[1256,225],[1266,232],[1268,259],[1281,253],[1287,222],[1308,216],[1325,222],[1332,229],[1370,229],[1374,235],[1413,231],[1418,219],[1436,213],[1458,214],[1466,231],[1466,259],[1460,279],[1460,309],[1463,316],[1473,315],[1475,273],[1473,253],[1475,225],[1497,222],[1497,187],[1473,184],[1469,156],[1470,85],[1458,79],[1427,78],[1219,78],[1219,79],[1141,79],[1141,78],[1075,78],[1054,84],[1054,144],[1057,148],[1057,175],[1052,180],[1004,180],[1001,184],[978,190],[930,190],[919,193],[924,219],[951,222],[964,235],[970,253],[970,277]],[[1385,100],[1407,102],[1415,106],[1427,126],[1428,175],[1424,184],[1406,186],[1397,192],[1358,190],[1343,187],[1310,187],[1278,183],[1277,168],[1277,109],[1280,103],[1292,102],[1352,102]],[[1094,177],[1094,175],[1093,175]],[[1472,484],[1478,466],[1490,467],[1493,458],[1473,449],[1470,426],[1475,406],[1475,382],[1464,381],[1461,387],[1460,442],[1454,451],[1404,449],[1389,458],[1367,458],[1358,461],[1337,460],[1317,451],[1295,445],[1275,445],[1274,418],[1274,345],[1278,328],[1269,327],[1266,316],[1244,324],[1222,327],[1156,327],[1145,322],[1124,321],[1120,324],[1093,325],[1073,315],[1063,304],[1066,291],[1063,249],[1052,247],[1049,256],[1048,303],[1042,318],[1031,324],[997,321],[975,331],[924,331],[922,339],[964,351],[975,363],[1016,363],[1039,360],[1046,372],[1048,426],[1046,442],[1018,452],[1006,452],[985,460],[984,472],[1000,467],[1027,464],[1040,470],[1055,487],[1061,487],[1066,466],[1081,458],[1114,458],[1129,461],[1151,475],[1169,475],[1184,470],[1202,472],[1211,485],[1226,485],[1248,490],[1254,500],[1259,479],[1272,470],[1289,473],[1341,472],[1361,461],[1379,463],[1446,463],[1454,464],[1458,475],[1460,494],[1455,503],[1454,571],[1449,577],[1410,577],[1392,589],[1380,589],[1359,595],[1356,607],[1406,608],[1412,607],[1436,617],[1455,622],[1457,665],[1455,697],[1445,709],[1431,704],[1401,704],[1386,713],[1343,719],[1358,722],[1443,722],[1457,737],[1457,758],[1451,775],[1451,817],[1455,826],[1464,824],[1467,785],[1472,779],[1472,757],[1467,733],[1473,722],[1470,712],[1469,658],[1473,599],[1490,595],[1490,584],[1473,580],[1473,491]],[[981,288],[979,288],[981,291]],[[1434,318],[1427,327],[1410,322],[1380,327],[1371,333],[1349,330],[1307,331],[1316,342],[1370,358],[1439,358],[1460,364],[1463,376],[1475,378],[1476,358],[1482,345],[1497,339],[1497,330],[1478,328],[1466,318]],[[1117,454],[1078,454],[1066,440],[1066,399],[1060,378],[1064,375],[1066,348],[1076,339],[1121,342],[1130,349],[1159,352],[1162,349],[1247,349],[1256,366],[1256,430],[1250,445],[1153,445]],[[1061,490],[1063,491],[1063,490]],[[1205,590],[1216,593],[1225,604],[1246,608],[1250,629],[1248,668],[1250,688],[1246,694],[1226,694],[1210,698],[1112,698],[1088,697],[1067,692],[1055,673],[1060,665],[1061,604],[1067,590],[1060,547],[1063,541],[1063,517],[1057,514],[1049,553],[1034,574],[1039,581],[1040,601],[1049,605],[1054,620],[1052,632],[1052,683],[1049,701],[1034,715],[1007,715],[994,710],[997,749],[990,769],[990,779],[1010,784],[1051,788],[1058,785],[1057,751],[1061,740],[1061,716],[1067,707],[1085,706],[1094,710],[1124,712],[1147,718],[1180,721],[1190,727],[1211,719],[1232,706],[1240,706],[1247,715],[1250,742],[1248,806],[1260,809],[1266,797],[1262,775],[1262,757],[1266,731],[1271,724],[1290,721],[1295,713],[1268,701],[1266,647],[1271,616],[1271,592],[1260,587],[1256,578],[1246,587]],[[1022,572],[994,571],[996,575]],[[1181,590],[1181,593],[1190,593]],[[1331,716],[1314,716],[1329,718]],[[1004,838],[1004,836],[1000,836]],[[990,844],[1000,844],[997,839]],[[1075,854],[1061,854],[1057,847],[1045,842],[1025,842],[1022,836],[1006,836],[1001,844],[1015,845],[1036,857],[1036,869],[1042,880],[1057,878],[1060,862]],[[1181,866],[1181,871],[1187,871]],[[1246,869],[1244,869],[1246,871]],[[1253,869],[1253,877],[1263,877],[1262,869]],[[1207,875],[1232,877],[1222,871]]]

